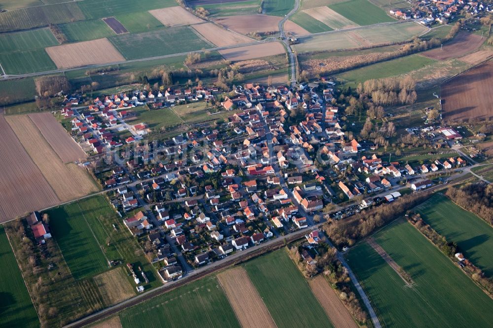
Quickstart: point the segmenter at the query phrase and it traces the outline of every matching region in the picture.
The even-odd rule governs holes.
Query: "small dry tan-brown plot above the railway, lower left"
[[[103,296],[106,306],[120,303],[135,296],[134,289],[124,270],[123,267],[118,267],[94,277],[94,282]]]

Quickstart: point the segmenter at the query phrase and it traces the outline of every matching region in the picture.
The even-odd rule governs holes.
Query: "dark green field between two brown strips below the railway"
[[[278,327],[333,327],[285,250],[247,262],[245,269]]]

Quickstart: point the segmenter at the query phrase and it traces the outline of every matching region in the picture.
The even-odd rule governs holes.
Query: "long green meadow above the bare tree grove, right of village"
[[[337,75],[337,77],[352,85],[359,82],[364,82],[370,79],[380,79],[389,76],[395,76],[405,74],[415,69],[422,68],[426,65],[435,63],[436,60],[426,58],[419,55],[410,55],[401,57],[387,62],[373,64],[357,69],[353,69],[349,72]]]

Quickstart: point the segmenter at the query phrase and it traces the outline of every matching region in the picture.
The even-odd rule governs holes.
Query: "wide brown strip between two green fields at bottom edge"
[[[277,327],[243,267],[219,273],[217,280],[243,328]]]

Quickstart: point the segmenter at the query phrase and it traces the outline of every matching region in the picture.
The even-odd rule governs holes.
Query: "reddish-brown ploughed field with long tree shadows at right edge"
[[[493,118],[493,61],[462,73],[441,86],[443,118],[469,122]]]

